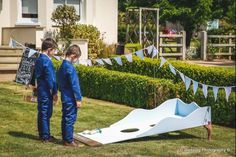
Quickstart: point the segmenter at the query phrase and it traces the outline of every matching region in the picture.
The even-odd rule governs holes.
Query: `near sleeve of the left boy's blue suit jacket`
[[[45,80],[48,84],[48,87],[50,89],[50,92],[52,95],[57,94],[57,83],[56,83],[56,76],[55,76],[55,70],[52,65],[52,63],[47,62],[45,64]]]

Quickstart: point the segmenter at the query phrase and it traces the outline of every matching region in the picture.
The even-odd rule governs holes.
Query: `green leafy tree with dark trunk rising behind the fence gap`
[[[190,46],[193,32],[210,19],[212,0],[161,0],[154,5],[160,8],[160,21],[177,22],[186,31],[186,47]]]

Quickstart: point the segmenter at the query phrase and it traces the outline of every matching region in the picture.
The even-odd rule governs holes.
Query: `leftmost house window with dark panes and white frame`
[[[22,0],[22,18],[38,18],[38,0]]]

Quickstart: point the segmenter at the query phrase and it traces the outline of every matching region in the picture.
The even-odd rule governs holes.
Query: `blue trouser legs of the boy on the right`
[[[77,108],[75,103],[63,103],[62,109],[62,138],[64,141],[71,143],[73,141],[74,124],[77,118]]]

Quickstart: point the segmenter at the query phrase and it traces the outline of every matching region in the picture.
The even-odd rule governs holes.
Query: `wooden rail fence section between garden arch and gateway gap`
[[[180,34],[162,34],[159,35],[159,56],[176,57],[185,60],[186,58],[186,32]],[[169,49],[169,52],[166,52]]]

